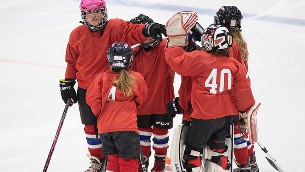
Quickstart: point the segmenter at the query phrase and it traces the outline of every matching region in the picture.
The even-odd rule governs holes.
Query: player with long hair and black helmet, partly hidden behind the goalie
[[[214,23],[223,25],[231,31],[234,41],[232,47],[229,48],[230,56],[244,65],[247,71],[248,51],[241,34],[242,19],[243,15],[236,6],[222,6],[214,17]],[[248,78],[248,74],[246,77]],[[250,81],[249,78],[248,81]],[[253,151],[254,145],[251,144],[248,136],[243,136],[247,131],[241,131],[240,122],[235,124],[234,133],[234,154],[238,166],[238,169],[234,169],[234,172],[259,172]]]

